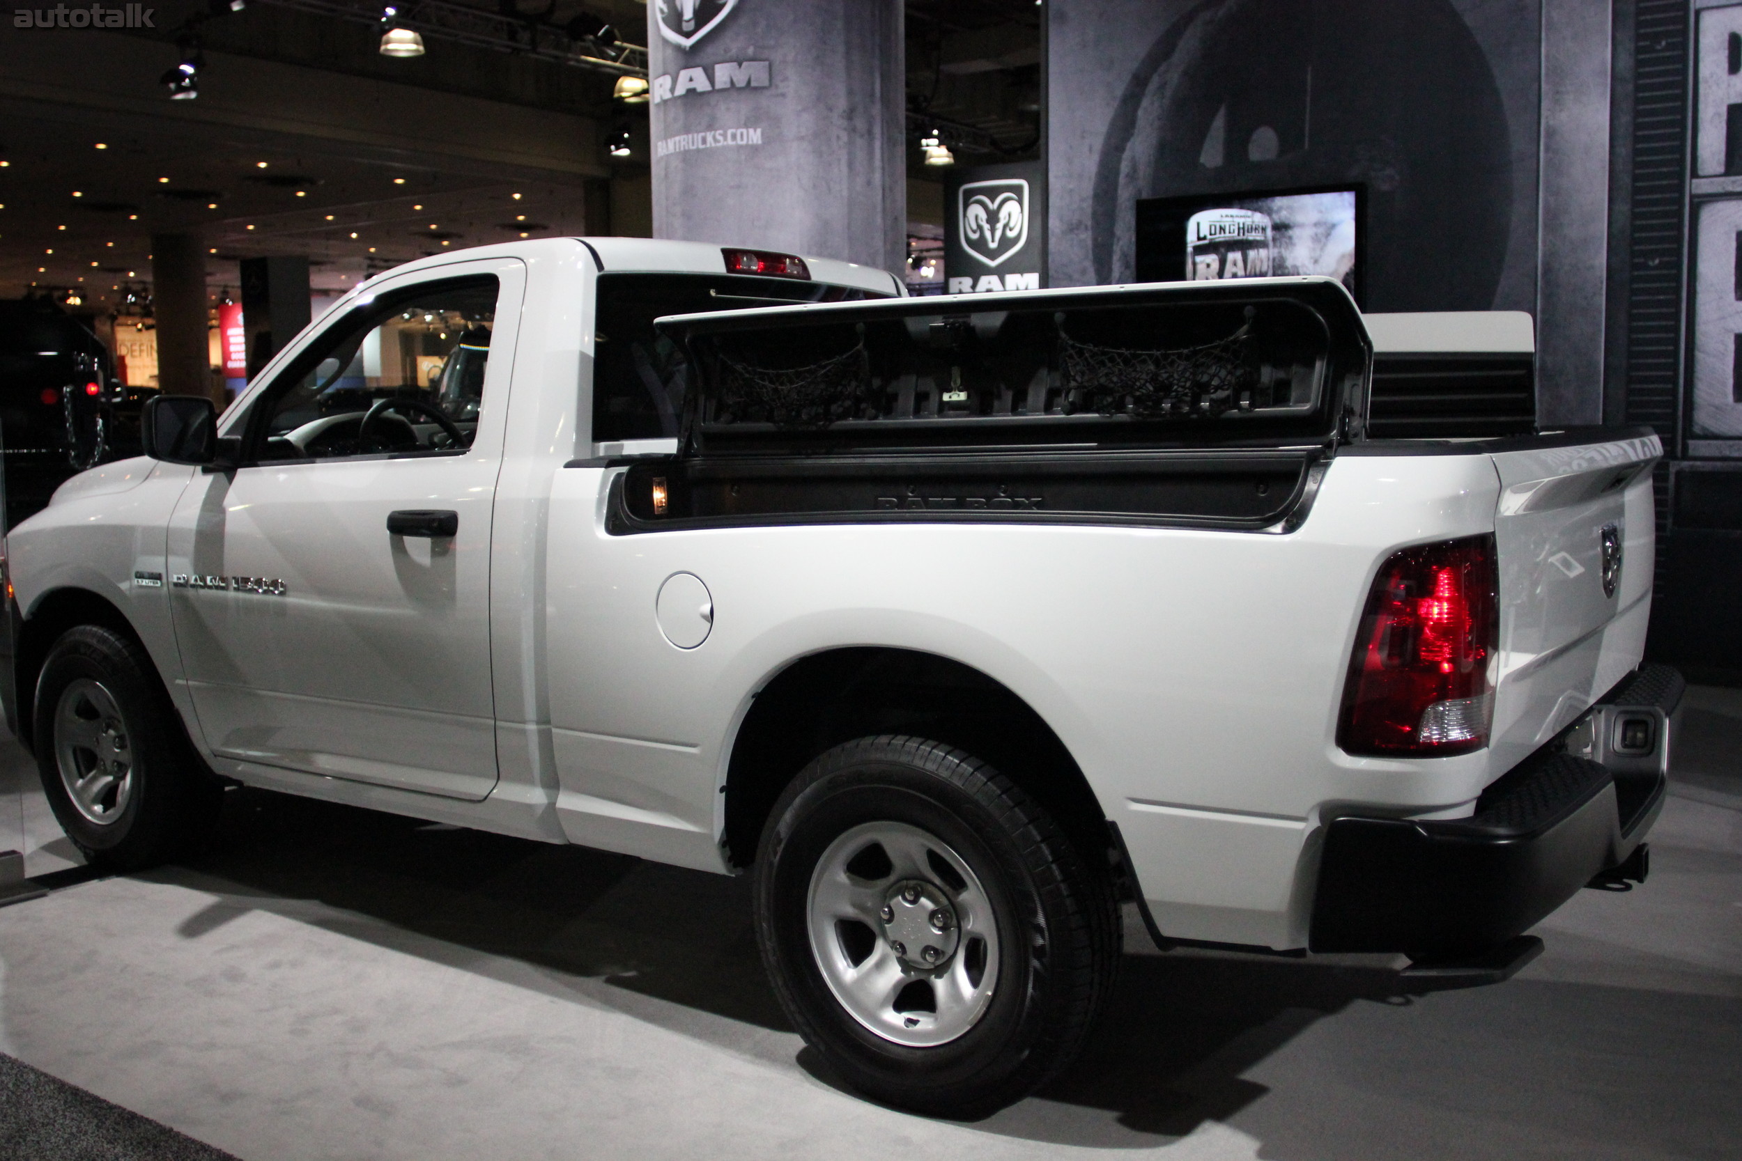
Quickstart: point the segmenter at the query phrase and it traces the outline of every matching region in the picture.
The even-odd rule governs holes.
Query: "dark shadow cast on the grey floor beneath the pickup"
[[[216,841],[185,870],[200,879],[190,886],[221,896],[181,924],[185,938],[256,909],[307,917],[314,902],[327,916],[317,921],[409,954],[465,968],[476,968],[477,954],[505,957],[556,978],[603,982],[711,1013],[723,1018],[712,1022],[712,1034],[728,1044],[744,1032],[723,1022],[791,1030],[756,952],[744,877],[265,790],[232,790]],[[164,874],[185,877],[185,870]],[[1395,973],[1383,970],[1181,952],[1127,956],[1092,1043],[1042,1098],[1113,1111],[1117,1124],[1084,1126],[1090,1138],[1108,1131],[1117,1144],[1183,1137],[1261,1097],[1266,1090],[1240,1074],[1357,999],[1408,1003]],[[658,1004],[627,1006],[662,1020]],[[664,1011],[672,1023],[671,1010]],[[697,1030],[690,1020],[676,1023]],[[789,1043],[780,1051],[789,1053]],[[814,1053],[805,1051],[800,1065],[840,1088]],[[1056,1140],[1057,1116],[1047,1131],[1030,1131],[1024,1119],[1007,1111],[986,1128]],[[1066,1138],[1115,1144],[1075,1131]]]

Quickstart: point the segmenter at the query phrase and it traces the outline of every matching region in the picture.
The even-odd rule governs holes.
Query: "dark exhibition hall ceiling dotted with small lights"
[[[9,68],[12,77],[0,77],[0,294],[35,284],[77,291],[87,308],[113,308],[129,282],[150,279],[150,235],[178,230],[202,232],[214,294],[233,285],[235,259],[270,252],[308,254],[315,285],[341,291],[444,242],[631,232],[625,223],[645,216],[636,200],[646,200],[646,110],[613,106],[608,71],[434,40],[423,57],[388,59],[376,50],[378,28],[300,10],[294,2],[253,0],[230,12],[207,0],[167,0],[157,5],[155,31],[80,33],[77,44],[94,50],[70,57],[61,82],[82,101],[77,108],[52,92],[33,96]],[[502,12],[490,0],[465,2]],[[625,42],[646,38],[646,7],[638,0],[528,2],[514,12],[545,31],[591,12],[615,24]],[[1035,157],[1040,17],[1033,0],[908,0],[909,141],[935,129],[960,164]],[[157,87],[159,71],[181,56],[178,35],[188,33],[209,59],[202,77],[211,96],[199,103],[197,118],[185,115],[192,103],[171,103]],[[47,33],[31,42],[51,54],[68,44]],[[375,139],[280,124],[329,96],[312,94],[310,85],[368,94],[369,84],[383,80],[394,82],[394,92],[411,87],[430,96],[381,108],[378,117],[354,110],[364,120],[376,117],[369,122]],[[277,92],[272,84],[291,87]],[[286,117],[214,120],[225,92],[244,104],[284,106]],[[451,110],[465,104],[460,97],[524,110],[526,118],[571,118],[561,125],[608,131],[627,120],[638,134],[636,155],[613,160],[587,141],[573,146],[585,153],[580,162],[479,160],[493,134],[451,120]],[[395,150],[397,125],[411,136]],[[429,150],[429,141],[453,150]],[[909,174],[941,179],[916,150]]]

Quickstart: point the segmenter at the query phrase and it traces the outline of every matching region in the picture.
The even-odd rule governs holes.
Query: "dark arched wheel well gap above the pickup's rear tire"
[[[794,661],[756,695],[726,768],[726,856],[747,867],[775,799],[810,759],[880,733],[960,747],[1021,785],[1090,865],[1108,846],[1106,815],[1077,761],[1003,684],[913,649],[854,648]]]

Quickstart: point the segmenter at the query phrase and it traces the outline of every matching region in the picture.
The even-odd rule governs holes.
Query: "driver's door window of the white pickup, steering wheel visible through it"
[[[361,306],[260,400],[254,460],[453,454],[486,406],[496,279],[455,279]]]

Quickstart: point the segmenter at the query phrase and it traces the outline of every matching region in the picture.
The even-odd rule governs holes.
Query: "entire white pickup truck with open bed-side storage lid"
[[[1528,317],[1326,279],[441,254],[12,529],[0,684],[117,869],[244,783],[749,872],[805,1039],[972,1114],[1080,1046],[1122,902],[1446,966],[1643,879],[1660,444],[1531,416]]]

